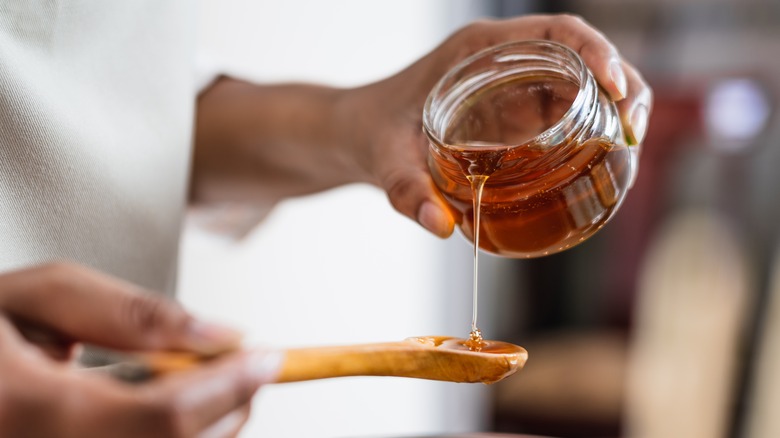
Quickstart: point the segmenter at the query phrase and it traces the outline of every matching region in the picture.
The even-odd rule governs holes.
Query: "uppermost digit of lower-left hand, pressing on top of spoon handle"
[[[237,332],[198,321],[173,301],[67,263],[0,276],[0,308],[110,348],[215,354],[240,343]]]

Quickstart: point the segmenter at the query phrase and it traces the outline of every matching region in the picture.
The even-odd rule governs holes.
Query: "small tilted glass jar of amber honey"
[[[579,55],[548,41],[483,50],[423,110],[436,187],[479,247],[507,257],[570,248],[615,214],[636,176],[615,104]],[[479,193],[480,182],[484,183]]]

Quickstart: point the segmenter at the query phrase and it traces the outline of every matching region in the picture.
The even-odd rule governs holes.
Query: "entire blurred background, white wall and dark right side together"
[[[480,259],[481,328],[528,349],[522,372],[269,387],[245,436],[780,436],[780,2],[201,3],[204,64],[260,82],[356,86],[473,19],[568,12],[655,92],[639,177],[607,227],[558,255]],[[189,227],[180,296],[274,347],[465,336],[471,263],[461,236],[349,186],[276,206],[239,242]]]

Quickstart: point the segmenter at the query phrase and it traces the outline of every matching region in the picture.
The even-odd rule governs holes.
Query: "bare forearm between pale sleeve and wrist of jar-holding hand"
[[[198,99],[191,201],[267,203],[368,181],[349,152],[346,93],[218,80]]]

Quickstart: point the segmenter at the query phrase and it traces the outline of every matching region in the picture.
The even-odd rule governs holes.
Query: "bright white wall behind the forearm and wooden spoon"
[[[209,0],[202,2],[201,46],[256,80],[357,85],[430,50],[473,6]],[[287,201],[237,244],[190,228],[182,249],[185,305],[246,330],[252,344],[381,342],[469,329],[469,246],[460,236],[429,236],[371,187]],[[453,272],[463,279],[454,286],[445,283]],[[394,378],[280,385],[258,396],[243,436],[467,431],[484,419],[484,396],[481,386]]]

